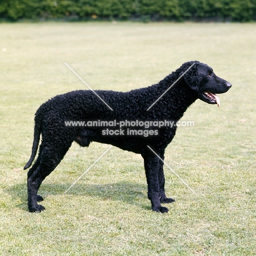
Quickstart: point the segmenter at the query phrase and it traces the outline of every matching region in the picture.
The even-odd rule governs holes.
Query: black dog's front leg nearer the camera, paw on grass
[[[148,183],[148,199],[151,201],[152,210],[155,212],[168,212],[168,208],[160,204],[159,187],[159,158],[151,153],[143,154],[144,167]]]

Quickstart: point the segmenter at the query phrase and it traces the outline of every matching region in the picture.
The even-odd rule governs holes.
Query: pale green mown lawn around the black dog
[[[255,255],[256,24],[0,24],[1,255]],[[5,50],[4,50],[5,48]],[[86,86],[127,91],[199,60],[233,84],[221,106],[198,100],[166,149],[167,214],[150,210],[141,156],[73,145],[27,211],[33,115]],[[204,196],[201,196],[202,193]]]

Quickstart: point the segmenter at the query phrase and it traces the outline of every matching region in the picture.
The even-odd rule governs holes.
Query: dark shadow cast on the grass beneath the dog
[[[72,184],[42,184],[38,194],[47,200],[51,195],[70,195],[73,196],[88,196],[95,197],[95,200],[113,200],[127,202],[130,205],[136,205],[144,209],[150,209],[147,201],[147,185],[130,182],[118,182],[110,184],[75,184],[70,188],[66,194],[65,191],[71,187]],[[7,189],[14,200],[18,203],[17,207],[27,211],[27,184],[16,184]],[[148,203],[148,207],[144,202]],[[44,203],[42,202],[44,205]]]

